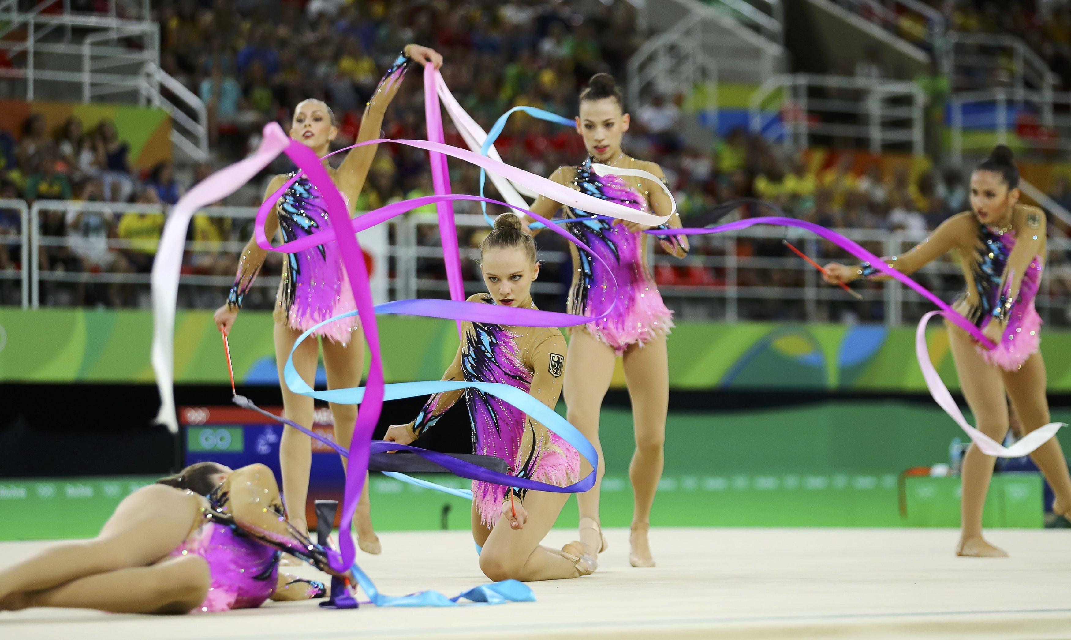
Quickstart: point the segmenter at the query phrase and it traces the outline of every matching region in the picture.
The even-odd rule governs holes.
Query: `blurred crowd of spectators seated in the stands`
[[[956,11],[963,16],[957,19],[976,20],[979,28],[992,16],[985,3],[977,10],[956,3]],[[1029,24],[1030,17],[1023,15]],[[185,189],[213,168],[246,155],[259,142],[258,132],[266,122],[288,125],[290,109],[306,98],[321,99],[332,106],[340,128],[336,146],[350,144],[380,74],[406,43],[427,44],[443,54],[442,74],[448,86],[489,129],[498,116],[516,105],[574,114],[577,88],[598,72],[613,73],[623,81],[624,64],[645,36],[637,26],[635,8],[625,0],[439,0],[417,9],[388,0],[180,0],[162,4],[156,18],[161,24],[162,66],[209,108],[212,162],[193,167],[182,174],[183,179],[177,179],[166,162],[148,169],[132,168],[129,147],[107,120],[87,130],[78,118],[71,118],[56,131],[47,131],[43,118],[35,114],[20,131],[0,132],[0,198],[134,205],[117,207],[114,212],[44,212],[41,236],[55,240],[41,251],[39,267],[43,271],[148,273],[165,219],[162,205],[177,202]],[[1068,33],[1071,28],[1052,45],[1065,46],[1060,43],[1067,41]],[[387,137],[424,137],[419,74],[420,70],[410,71],[412,77],[388,111]],[[712,146],[696,147],[681,135],[683,101],[681,95],[664,95],[649,104],[628,105],[633,125],[624,147],[662,165],[685,225],[705,224],[722,203],[758,197],[790,215],[825,226],[903,230],[916,237],[967,208],[965,176],[957,168],[889,163],[844,150],[789,153],[741,129]],[[456,133],[451,131],[448,136],[448,143],[464,146]],[[507,162],[541,175],[584,157],[583,143],[572,129],[523,114],[513,117],[496,146]],[[269,173],[289,169],[285,159],[270,168]],[[451,170],[455,192],[478,192],[479,173],[472,166],[451,163]],[[1066,181],[1059,189],[1055,195],[1071,205]],[[488,191],[494,196],[493,188]],[[365,211],[431,192],[423,152],[384,145],[356,208]],[[225,204],[256,205],[261,194],[262,190],[250,189]],[[479,212],[478,205],[458,203],[455,209]],[[10,274],[18,268],[21,258],[15,238],[19,224],[14,209],[0,206],[0,273]],[[247,220],[197,217],[190,239],[217,243],[220,250],[191,254],[185,272],[218,277],[221,282],[231,277],[238,251],[229,245],[223,250],[220,243],[244,242],[251,228]],[[435,226],[422,226],[420,233],[421,243],[437,243]],[[471,234],[463,237],[463,242],[474,245],[482,232],[463,233]],[[63,241],[64,236],[71,240]],[[540,241],[545,243],[544,250],[562,249],[545,234]],[[695,244],[698,254],[726,251],[719,250],[721,244],[713,240],[697,240]],[[740,257],[787,255],[780,242],[741,241],[730,251]],[[421,264],[422,277],[441,278],[441,269],[433,262]],[[278,269],[278,261],[272,258],[266,273],[277,274]],[[473,269],[469,265],[472,279],[477,278]],[[568,268],[555,269],[547,279],[555,274],[561,281],[570,276]],[[670,287],[716,286],[724,283],[725,273],[724,269],[700,265],[657,268],[655,276]],[[802,282],[803,271],[741,272],[739,284],[757,286],[768,283],[760,282],[767,278],[775,284],[796,286]],[[14,284],[11,279],[0,280],[0,303],[15,301]],[[186,303],[214,307],[221,299],[221,286],[206,287],[202,296]],[[42,301],[146,304],[145,287],[138,291],[119,283],[50,283],[43,286]],[[266,287],[250,299],[253,304],[269,307],[272,294]],[[560,301],[548,304],[556,308]],[[781,313],[776,304],[764,304],[753,315],[776,317]]]

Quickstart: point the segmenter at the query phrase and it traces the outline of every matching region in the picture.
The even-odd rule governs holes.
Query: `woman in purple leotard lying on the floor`
[[[188,466],[126,496],[95,538],[0,571],[0,610],[187,613],[325,597],[321,582],[280,572],[285,551],[334,575],[323,548],[283,514],[267,466]]]

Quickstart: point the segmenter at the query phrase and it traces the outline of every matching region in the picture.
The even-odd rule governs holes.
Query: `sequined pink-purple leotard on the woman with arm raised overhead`
[[[291,177],[293,174],[287,176],[288,179]],[[286,190],[275,205],[274,214],[277,215],[278,226],[287,242],[331,226],[323,196],[305,176],[298,178]],[[242,255],[238,276],[227,296],[228,304],[241,307],[266,255],[267,252],[259,248],[250,249]],[[290,327],[304,331],[317,323],[357,308],[335,242],[285,256],[283,281],[280,283],[275,307],[277,321],[285,317]],[[345,344],[349,342],[350,333],[358,324],[356,316],[348,317],[320,327],[316,333]]]

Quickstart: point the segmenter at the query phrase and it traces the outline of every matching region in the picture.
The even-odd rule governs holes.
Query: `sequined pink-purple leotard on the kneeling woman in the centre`
[[[472,296],[469,301],[494,303],[487,294]],[[502,383],[531,393],[552,408],[557,404],[565,363],[565,340],[558,329],[482,323],[464,323],[463,328],[465,343],[442,379]],[[501,458],[517,477],[559,487],[576,481],[576,449],[495,396],[472,388],[464,393],[477,453]],[[434,427],[461,397],[462,391],[432,396],[413,421],[414,433],[419,436]],[[472,501],[487,526],[498,521],[507,491],[500,485],[472,482]]]

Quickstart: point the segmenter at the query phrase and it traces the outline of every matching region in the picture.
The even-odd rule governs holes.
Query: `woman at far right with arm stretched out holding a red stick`
[[[1009,427],[1006,392],[1024,433],[1050,419],[1045,366],[1039,351],[1041,317],[1034,308],[1044,267],[1045,214],[1037,207],[1020,205],[1019,198],[1019,169],[1011,149],[997,146],[970,176],[971,210],[946,220],[918,247],[888,262],[902,273],[914,273],[949,250],[959,252],[966,289],[953,309],[997,347],[987,351],[966,331],[946,323],[952,358],[977,428],[997,442]],[[826,273],[826,280],[833,283],[888,279],[866,263],[859,267],[831,263]],[[1068,517],[1071,477],[1059,443],[1054,437],[1030,457],[1056,494],[1053,511]],[[982,537],[982,508],[994,462],[975,444],[964,456],[959,555],[1008,555]]]

